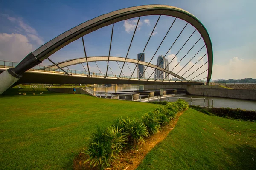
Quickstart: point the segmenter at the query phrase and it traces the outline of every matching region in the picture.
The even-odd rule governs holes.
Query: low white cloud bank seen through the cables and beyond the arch
[[[184,65],[181,65],[178,62],[180,61],[179,57],[176,57],[175,54],[170,54],[166,56],[166,59],[168,59],[169,62],[169,71],[173,71],[174,73],[178,73],[180,69],[182,69],[178,75],[186,78],[187,80],[193,79],[198,74],[199,75],[195,79],[202,79],[207,77],[208,71],[208,63],[207,62],[207,56],[202,58],[202,56],[197,57],[197,60],[194,62],[190,61],[184,68]],[[201,59],[196,65],[195,63]],[[185,63],[185,62],[181,62]],[[206,63],[206,64],[205,64]],[[177,66],[176,66],[177,65]],[[193,66],[194,65],[194,66]],[[239,57],[233,57],[233,59],[230,59],[227,63],[221,63],[221,64],[214,64],[212,69],[212,79],[244,79],[244,78],[256,78],[256,60],[246,60]],[[193,66],[193,67],[192,67]],[[192,68],[191,68],[192,67]],[[200,68],[201,67],[201,68]],[[191,68],[191,69],[189,69]],[[199,69],[198,69],[199,68]],[[197,70],[198,69],[198,70]],[[189,71],[188,71],[189,70]],[[196,71],[197,70],[197,71]],[[188,72],[186,72],[188,71]],[[195,71],[195,73],[193,73]],[[192,74],[193,73],[193,74]],[[192,75],[190,75],[192,74]],[[172,78],[173,76],[170,76],[169,78]],[[206,79],[203,79],[206,80]]]

